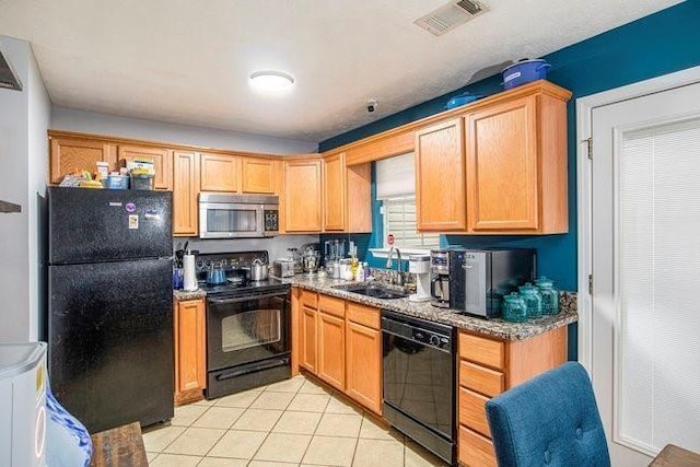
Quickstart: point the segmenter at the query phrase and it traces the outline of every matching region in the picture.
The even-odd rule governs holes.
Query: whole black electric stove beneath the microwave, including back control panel
[[[207,399],[291,377],[289,283],[250,281],[250,265],[267,252],[202,254],[196,258],[207,292]],[[225,283],[207,283],[211,268]]]

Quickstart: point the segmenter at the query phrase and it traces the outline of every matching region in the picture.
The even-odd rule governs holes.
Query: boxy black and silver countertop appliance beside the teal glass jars
[[[494,318],[503,296],[535,278],[532,248],[454,249],[450,252],[451,308]]]

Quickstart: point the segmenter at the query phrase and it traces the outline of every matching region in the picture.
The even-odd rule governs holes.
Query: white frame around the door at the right
[[[591,94],[576,100],[576,217],[578,217],[578,307],[579,362],[593,370],[593,300],[588,293],[588,275],[593,273],[592,174],[587,140],[593,133],[593,109],[649,94],[700,82],[700,67]],[[595,288],[595,282],[594,285]]]

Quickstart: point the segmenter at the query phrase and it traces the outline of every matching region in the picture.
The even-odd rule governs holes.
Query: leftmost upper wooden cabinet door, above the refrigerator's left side
[[[108,162],[109,172],[117,170],[117,148],[104,141],[51,137],[51,184],[59,184],[75,171],[97,172],[97,162]]]

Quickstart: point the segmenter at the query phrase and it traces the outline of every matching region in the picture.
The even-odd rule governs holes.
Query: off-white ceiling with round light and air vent
[[[481,2],[435,37],[413,21],[446,0],[0,0],[0,35],[32,43],[57,106],[319,142],[679,3]],[[255,92],[261,69],[295,84]]]

